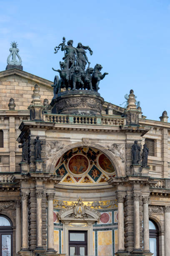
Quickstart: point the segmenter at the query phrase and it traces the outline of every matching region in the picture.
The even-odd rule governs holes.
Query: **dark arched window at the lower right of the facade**
[[[149,220],[149,246],[153,256],[159,256],[159,230],[153,220]]]

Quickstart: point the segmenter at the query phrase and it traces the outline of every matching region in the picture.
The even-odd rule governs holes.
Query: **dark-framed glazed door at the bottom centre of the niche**
[[[87,231],[69,231],[69,255],[87,255]]]

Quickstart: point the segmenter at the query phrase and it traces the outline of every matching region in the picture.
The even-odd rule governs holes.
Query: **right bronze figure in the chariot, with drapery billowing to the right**
[[[86,52],[84,49],[88,49],[90,51],[90,54],[92,55],[92,50],[90,49],[89,46],[83,46],[82,43],[78,43],[77,48],[76,48],[77,64],[80,67],[81,71],[85,70],[85,66],[87,63],[90,65],[90,62],[88,61],[88,58],[86,56]]]

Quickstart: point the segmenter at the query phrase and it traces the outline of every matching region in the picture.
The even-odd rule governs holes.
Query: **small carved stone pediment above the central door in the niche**
[[[76,223],[95,223],[95,221],[100,219],[100,215],[100,212],[92,210],[90,207],[84,205],[81,198],[78,199],[78,202],[72,203],[67,209],[60,210],[60,212],[57,213],[57,217],[62,223],[74,221]]]

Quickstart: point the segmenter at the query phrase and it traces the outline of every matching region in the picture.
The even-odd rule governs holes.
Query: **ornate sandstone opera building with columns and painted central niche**
[[[52,100],[51,84],[0,72],[0,255],[170,256],[167,113],[148,120],[133,90],[126,111],[87,90]]]

